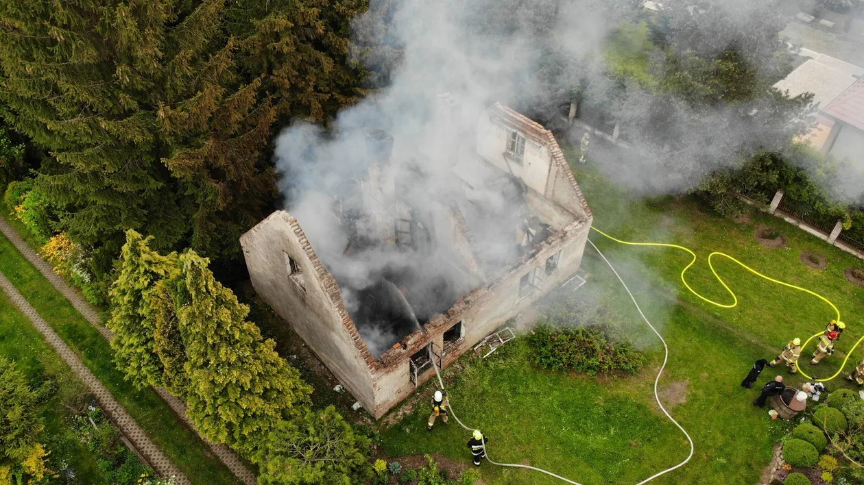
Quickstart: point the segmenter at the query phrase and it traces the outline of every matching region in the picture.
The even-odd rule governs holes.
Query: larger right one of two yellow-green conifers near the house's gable
[[[176,315],[186,353],[188,415],[216,443],[250,456],[280,419],[298,415],[311,388],[245,321],[249,307],[188,251],[175,277]]]

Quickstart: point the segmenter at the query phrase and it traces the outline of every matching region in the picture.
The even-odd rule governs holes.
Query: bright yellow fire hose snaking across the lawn
[[[694,253],[694,252],[691,251],[690,249],[684,248],[683,246],[679,246],[679,245],[677,245],[677,244],[668,244],[668,243],[664,243],[664,242],[629,242],[629,241],[621,241],[620,239],[616,239],[616,238],[614,238],[613,236],[609,236],[607,233],[603,232],[602,230],[599,230],[599,229],[595,228],[594,226],[591,226],[591,229],[593,229],[593,230],[596,231],[598,234],[600,234],[600,236],[606,236],[608,239],[611,239],[611,240],[613,240],[614,242],[619,242],[619,243],[621,243],[621,244],[626,244],[626,245],[628,245],[628,246],[654,246],[654,247],[659,247],[659,248],[673,248],[673,249],[681,249],[681,250],[683,250],[683,251],[687,251],[687,252],[689,253],[689,255],[693,256],[693,259],[690,260],[689,264],[688,264],[687,266],[685,266],[685,267],[681,270],[681,281],[683,282],[684,287],[686,287],[686,288],[690,291],[690,293],[695,294],[697,297],[699,297],[700,299],[705,300],[706,302],[710,303],[711,305],[717,305],[717,306],[720,306],[721,308],[734,308],[735,306],[738,305],[738,297],[735,296],[735,293],[732,291],[731,288],[729,288],[729,286],[726,284],[726,281],[724,281],[724,280],[720,277],[720,274],[717,274],[717,270],[714,268],[714,263],[711,261],[712,258],[713,258],[714,256],[722,256],[722,257],[724,257],[724,258],[727,258],[727,259],[729,259],[729,260],[731,260],[731,261],[734,261],[734,262],[738,263],[738,265],[739,265],[741,268],[746,269],[746,270],[749,271],[750,273],[753,273],[753,274],[759,276],[760,278],[764,278],[764,279],[766,279],[766,280],[771,281],[772,283],[777,283],[778,285],[782,285],[782,286],[784,286],[784,287],[790,287],[790,288],[796,289],[796,290],[798,290],[798,291],[802,291],[802,292],[804,292],[804,293],[809,293],[809,294],[815,296],[816,298],[823,300],[825,303],[827,303],[828,305],[830,305],[832,309],[834,309],[834,312],[836,313],[836,320],[837,320],[838,322],[841,321],[841,318],[840,318],[840,310],[838,310],[837,307],[836,307],[836,305],[834,305],[833,303],[831,303],[831,302],[829,301],[829,299],[823,297],[821,294],[819,294],[819,293],[815,293],[815,292],[811,292],[811,291],[808,290],[807,288],[797,287],[797,286],[795,286],[795,285],[791,285],[790,283],[786,283],[786,282],[784,282],[784,281],[775,280],[775,279],[773,279],[773,278],[770,277],[770,276],[766,276],[765,274],[761,274],[761,273],[759,273],[759,271],[756,271],[755,269],[750,268],[749,266],[747,266],[746,264],[744,264],[744,263],[741,262],[741,261],[738,261],[738,260],[735,259],[734,257],[732,257],[732,256],[730,256],[730,255],[727,255],[727,254],[724,254],[724,253],[721,253],[721,252],[717,252],[717,251],[715,251],[715,252],[711,253],[710,255],[708,255],[708,268],[711,268],[711,273],[713,273],[714,276],[715,276],[715,278],[716,278],[718,281],[720,281],[720,284],[721,284],[724,288],[726,288],[727,293],[729,293],[729,295],[732,296],[732,303],[731,303],[731,304],[726,304],[726,303],[719,303],[719,302],[716,302],[716,301],[714,301],[713,299],[708,299],[708,298],[702,296],[701,294],[699,294],[698,292],[696,292],[696,290],[694,290],[692,287],[690,287],[689,283],[687,282],[687,277],[686,277],[687,271],[688,271],[689,268],[691,268],[694,264],[696,264],[696,253]],[[823,332],[820,331],[819,333],[816,333],[816,334],[812,335],[810,338],[808,338],[807,341],[804,342],[804,345],[801,346],[801,354],[802,354],[802,355],[804,354],[804,348],[807,347],[807,344],[810,343],[811,340],[813,340],[813,339],[816,338],[816,337],[821,336],[822,334],[823,334]],[[815,379],[814,381],[816,381],[816,382],[827,382],[827,381],[831,381],[831,380],[834,379],[836,376],[840,375],[840,373],[842,372],[843,368],[846,367],[846,364],[847,364],[847,362],[848,362],[848,360],[849,360],[849,357],[852,356],[852,353],[854,352],[855,349],[858,348],[858,345],[859,345],[862,341],[864,341],[864,337],[859,338],[858,341],[855,342],[855,344],[852,346],[852,349],[850,349],[850,350],[848,351],[848,353],[846,354],[846,358],[843,359],[843,362],[842,362],[840,368],[837,369],[837,372],[835,372],[834,375],[832,375],[832,376],[830,376],[830,377],[828,377],[828,378],[826,378],[826,379]],[[807,379],[813,380],[813,378],[810,377],[810,375],[807,375],[807,374],[804,373],[804,370],[801,368],[801,366],[798,365],[798,362],[797,362],[797,361],[795,362],[795,367],[798,369],[798,372],[800,372],[801,375],[804,375],[804,377],[806,377]]]

